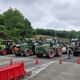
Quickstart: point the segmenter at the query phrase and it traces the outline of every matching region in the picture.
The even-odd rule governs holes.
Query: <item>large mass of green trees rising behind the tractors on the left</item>
[[[24,34],[25,33],[25,34]],[[31,23],[17,9],[9,8],[0,14],[0,38],[18,41],[20,36],[32,35]],[[23,35],[21,35],[23,34]]]

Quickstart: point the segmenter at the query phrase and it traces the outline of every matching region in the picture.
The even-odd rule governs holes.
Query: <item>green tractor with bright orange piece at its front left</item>
[[[16,56],[30,56],[35,54],[34,44],[30,42],[17,44],[13,47],[12,52]]]

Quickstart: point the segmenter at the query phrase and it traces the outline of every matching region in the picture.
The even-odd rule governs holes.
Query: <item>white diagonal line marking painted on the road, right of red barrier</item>
[[[62,59],[64,58],[67,58],[67,57],[63,57]],[[41,71],[43,71],[45,68],[47,68],[49,65],[51,65],[52,63],[55,63],[57,62],[59,59],[55,60],[55,61],[50,61],[49,63],[46,63],[46,64],[43,64],[43,65],[39,65],[37,67],[33,67],[33,68],[29,68],[29,69],[26,69],[25,71],[28,72],[28,71],[32,71],[32,75],[30,77],[27,78],[30,79],[34,76],[36,76],[38,73],[40,73]],[[40,67],[40,68],[39,68]],[[38,69],[37,69],[38,68]],[[36,69],[36,70],[35,70]]]

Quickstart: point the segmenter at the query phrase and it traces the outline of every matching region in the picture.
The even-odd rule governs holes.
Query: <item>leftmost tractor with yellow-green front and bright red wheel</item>
[[[2,55],[12,54],[11,47],[13,42],[14,42],[13,40],[3,40],[0,45],[0,54]]]

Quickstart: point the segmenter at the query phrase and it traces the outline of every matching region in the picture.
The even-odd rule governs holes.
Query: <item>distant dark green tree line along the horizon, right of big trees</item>
[[[50,30],[50,29],[36,29],[35,33],[38,35],[50,35],[50,36],[55,36],[55,30]],[[80,39],[80,31],[76,32],[74,30],[72,31],[57,31],[56,30],[56,36],[61,37],[61,38],[78,38]]]

